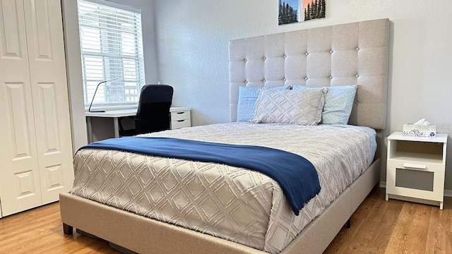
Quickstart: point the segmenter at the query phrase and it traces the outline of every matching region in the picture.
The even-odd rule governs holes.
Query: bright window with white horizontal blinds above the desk
[[[92,100],[101,107],[137,104],[145,84],[140,10],[102,0],[77,3],[85,107]]]

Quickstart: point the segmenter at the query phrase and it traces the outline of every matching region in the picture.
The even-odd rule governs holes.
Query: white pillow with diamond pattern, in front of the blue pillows
[[[321,121],[327,90],[261,90],[251,122],[316,125]]]

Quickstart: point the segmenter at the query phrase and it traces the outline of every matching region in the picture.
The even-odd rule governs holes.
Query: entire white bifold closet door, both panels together
[[[3,216],[71,189],[60,0],[0,0],[0,133]]]

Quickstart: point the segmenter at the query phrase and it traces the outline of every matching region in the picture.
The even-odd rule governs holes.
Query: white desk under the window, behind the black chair
[[[114,126],[114,138],[119,138],[119,118],[125,116],[135,116],[137,109],[119,109],[119,110],[107,110],[105,112],[85,112],[86,126],[88,131],[88,143],[93,142],[93,125],[91,118],[93,117],[107,117],[113,119]],[[188,107],[171,107],[169,109],[170,114],[187,113],[190,114],[190,108]],[[190,118],[188,119],[190,121]],[[189,126],[189,125],[188,125]]]

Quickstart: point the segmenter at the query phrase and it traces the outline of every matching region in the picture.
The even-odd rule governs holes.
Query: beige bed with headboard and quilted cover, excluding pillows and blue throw
[[[378,143],[381,130],[386,126],[388,47],[388,19],[232,40],[231,123],[149,134],[154,138],[262,145],[307,157],[319,171],[322,188],[298,216],[291,214],[293,211],[278,184],[258,172],[223,164],[90,148],[79,151],[74,157],[74,188],[60,195],[64,233],[72,234],[75,227],[136,253],[322,253],[379,181],[381,162],[378,148],[371,145],[371,140]],[[269,95],[282,95],[285,87],[321,90],[316,87],[352,84],[357,84],[357,91],[346,126],[236,122],[243,120],[240,111],[243,105],[239,104],[243,87],[272,88],[276,91],[268,89],[271,90]],[[304,139],[309,136],[328,142]],[[300,148],[299,143],[308,145]],[[342,148],[336,145],[338,143],[348,146]],[[338,151],[332,153],[332,150]],[[350,164],[345,165],[338,159],[324,162],[321,160],[324,157],[343,157]],[[343,171],[340,180],[336,180],[337,185],[328,173],[333,167],[342,167]],[[161,197],[169,194],[143,187],[155,186],[148,184],[148,180],[143,181],[152,178],[140,175],[148,172],[144,168],[177,172],[171,179],[167,174],[153,177],[162,180],[160,191],[172,189],[173,200],[177,202],[161,202]],[[139,169],[138,173],[129,178],[132,184],[128,186],[124,186],[125,180],[114,179],[115,174],[111,174],[115,170],[131,172],[134,169]],[[206,183],[194,185],[194,181],[186,181],[194,179],[187,177],[189,169],[203,171]],[[215,174],[222,171],[222,178],[211,171]],[[227,178],[229,176],[234,177]],[[105,179],[113,181],[106,183]],[[141,185],[138,179],[143,182]],[[198,177],[197,181],[200,179]],[[230,181],[228,186],[242,186],[242,189],[223,189],[222,183],[226,181]],[[179,187],[167,187],[168,183]],[[207,186],[207,183],[217,185],[201,190],[199,186]],[[249,186],[255,188],[251,190]],[[179,191],[184,188],[191,192],[186,191],[184,195]],[[117,190],[117,194],[112,194]],[[222,195],[215,195],[213,190]],[[272,192],[269,194],[268,190]],[[203,195],[192,198],[198,197],[198,201],[202,200],[198,205],[207,204],[210,210],[204,208],[200,212],[197,206],[193,208],[195,201],[189,200],[186,194],[196,191]],[[240,196],[242,201],[235,202],[232,196]],[[227,206],[232,210],[223,209]]]

